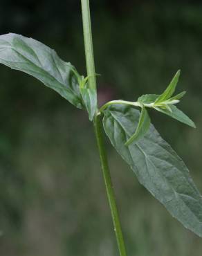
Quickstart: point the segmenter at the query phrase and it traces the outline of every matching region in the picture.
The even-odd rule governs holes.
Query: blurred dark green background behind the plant
[[[191,129],[150,111],[202,192],[202,4],[91,1],[100,103],[160,93],[181,68]],[[1,1],[0,33],[55,48],[86,75],[79,0]],[[33,77],[0,66],[0,255],[117,256],[93,129]],[[129,255],[199,256],[202,240],[143,188],[106,140]]]

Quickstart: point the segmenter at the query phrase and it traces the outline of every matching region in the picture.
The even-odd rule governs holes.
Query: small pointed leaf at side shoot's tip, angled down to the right
[[[180,109],[178,109],[176,106],[172,104],[169,105],[169,108],[172,110],[172,112],[168,111],[167,109],[155,107],[155,109],[160,111],[161,113],[165,113],[167,116],[170,116],[178,120],[179,122],[183,122],[185,125],[189,125],[190,127],[196,128],[196,125],[194,124],[194,122],[187,115],[185,115],[183,111],[181,111]]]

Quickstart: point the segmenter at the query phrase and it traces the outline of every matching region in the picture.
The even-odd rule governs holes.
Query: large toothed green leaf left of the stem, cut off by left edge
[[[35,39],[12,33],[1,35],[0,63],[33,75],[75,107],[83,107],[78,84],[80,75],[74,66]]]

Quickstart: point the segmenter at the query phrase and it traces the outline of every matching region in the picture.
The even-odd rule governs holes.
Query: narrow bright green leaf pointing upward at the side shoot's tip
[[[168,100],[173,95],[176,89],[176,85],[178,83],[178,78],[180,74],[181,74],[181,71],[178,70],[177,73],[174,75],[172,81],[169,83],[169,86],[167,86],[167,89],[165,89],[165,91],[156,99],[155,103]]]

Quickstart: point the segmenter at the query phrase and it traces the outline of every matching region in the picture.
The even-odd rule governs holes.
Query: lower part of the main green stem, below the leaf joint
[[[111,209],[111,217],[113,219],[113,226],[114,231],[116,232],[116,240],[118,243],[118,249],[120,256],[127,256],[125,242],[122,236],[122,229],[120,226],[120,220],[118,216],[118,208],[116,205],[115,194],[113,192],[113,185],[111,182],[111,176],[109,172],[109,165],[107,161],[107,153],[106,149],[104,148],[103,136],[102,136],[102,122],[100,120],[100,115],[96,116],[95,118],[95,135],[98,143],[98,149],[100,153],[100,162],[102,166],[102,173],[104,176],[104,183],[107,190],[107,197],[109,200],[109,206]]]

